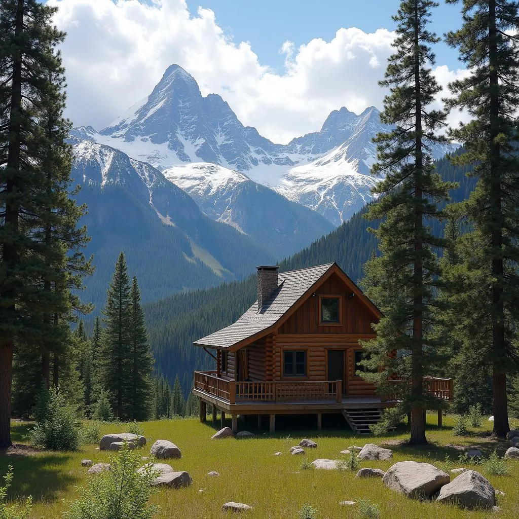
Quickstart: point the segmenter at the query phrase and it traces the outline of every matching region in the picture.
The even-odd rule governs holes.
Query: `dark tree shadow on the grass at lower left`
[[[71,453],[42,452],[27,456],[0,451],[0,475],[7,472],[9,465],[14,472],[9,497],[31,495],[35,503],[58,499],[59,493],[79,483],[79,477],[64,468],[72,457]]]

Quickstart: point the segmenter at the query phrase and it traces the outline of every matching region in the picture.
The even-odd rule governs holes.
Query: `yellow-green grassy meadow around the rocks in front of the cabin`
[[[496,441],[484,429],[478,429],[468,436],[453,436],[451,417],[444,418],[444,427],[435,426],[435,415],[428,415],[427,436],[430,445],[424,448],[409,448],[405,445],[391,445],[393,460],[363,461],[361,467],[387,470],[393,463],[412,459],[445,465],[450,457],[452,468],[460,467],[459,452],[448,445],[479,445],[485,456],[497,449],[500,456],[507,448],[506,442]],[[219,422],[218,422],[219,423]],[[519,424],[515,424],[519,426]],[[30,425],[13,423],[13,441],[21,442]],[[101,434],[122,432],[127,425],[103,425]],[[317,449],[306,449],[305,459],[338,459],[340,450],[350,445],[364,445],[367,442],[383,444],[388,440],[407,438],[407,428],[401,428],[383,438],[356,437],[346,430],[305,431],[277,434],[263,434],[253,439],[211,440],[214,429],[209,422],[200,424],[197,420],[168,420],[145,422],[142,424],[148,440],[142,449],[147,456],[149,447],[157,439],[167,439],[182,450],[182,459],[171,460],[174,470],[186,470],[194,484],[185,489],[162,489],[153,499],[161,511],[158,519],[185,517],[206,519],[225,516],[220,511],[223,503],[239,501],[251,504],[250,519],[297,519],[298,510],[305,504],[318,510],[317,519],[340,519],[357,516],[356,507],[339,507],[339,501],[359,501],[368,499],[379,506],[380,517],[402,517],[404,519],[483,519],[488,512],[461,511],[445,504],[409,500],[387,489],[380,480],[356,480],[355,472],[302,470],[302,457],[290,456],[289,449],[303,438],[311,438],[318,443]],[[488,422],[483,423],[488,429]],[[278,450],[282,456],[274,456]],[[0,474],[7,466],[15,469],[15,481],[11,488],[11,499],[21,499],[31,494],[34,498],[33,517],[59,518],[66,507],[64,500],[73,499],[75,487],[84,483],[87,469],[81,467],[80,460],[89,458],[94,463],[107,461],[109,454],[95,450],[95,445],[83,446],[75,453],[38,453],[32,456],[0,454]],[[448,464],[447,464],[448,465]],[[481,470],[476,465],[463,465]],[[446,467],[447,468],[447,467]],[[507,495],[498,496],[502,512],[498,517],[517,519],[519,517],[519,462],[509,462],[509,476],[487,476],[495,488]],[[221,477],[209,477],[209,471],[220,472]],[[203,489],[202,492],[199,490]],[[245,516],[245,514],[243,514]]]

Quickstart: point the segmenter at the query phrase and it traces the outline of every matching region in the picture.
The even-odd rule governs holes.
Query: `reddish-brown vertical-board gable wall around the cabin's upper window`
[[[319,294],[338,295],[342,298],[341,323],[321,325],[319,323]],[[358,297],[349,297],[351,291],[336,274],[325,280],[318,289],[316,296],[310,296],[295,313],[283,323],[279,334],[318,333],[333,334],[371,334],[373,316],[360,302]]]

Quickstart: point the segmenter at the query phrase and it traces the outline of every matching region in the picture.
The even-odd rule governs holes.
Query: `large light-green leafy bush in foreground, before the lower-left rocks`
[[[142,474],[136,472],[141,454],[130,450],[127,442],[110,463],[111,470],[96,474],[77,489],[80,497],[69,503],[64,519],[149,519],[158,512],[148,502],[155,491],[151,482],[159,472],[149,467]]]

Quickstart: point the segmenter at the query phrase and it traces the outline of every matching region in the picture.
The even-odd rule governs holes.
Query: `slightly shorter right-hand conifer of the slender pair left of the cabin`
[[[141,307],[141,292],[137,278],[133,276],[130,291],[130,350],[129,383],[126,395],[127,417],[146,420],[152,403],[151,372],[153,354],[148,342],[148,332]]]

